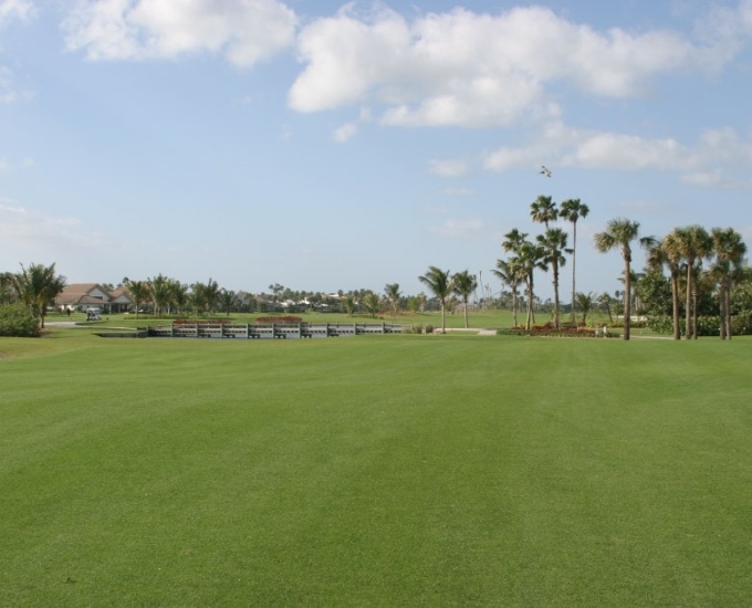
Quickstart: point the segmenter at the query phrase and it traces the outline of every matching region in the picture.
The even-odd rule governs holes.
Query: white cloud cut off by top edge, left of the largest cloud
[[[62,28],[90,60],[209,52],[248,67],[290,48],[296,22],[278,0],[79,0]]]

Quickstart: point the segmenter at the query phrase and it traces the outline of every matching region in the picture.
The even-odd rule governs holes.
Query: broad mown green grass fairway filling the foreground
[[[751,350],[0,338],[0,606],[749,605]]]

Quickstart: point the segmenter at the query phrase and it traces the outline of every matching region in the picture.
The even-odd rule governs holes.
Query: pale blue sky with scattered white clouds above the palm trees
[[[0,0],[0,271],[498,291],[546,195],[613,292],[609,219],[752,245],[751,51],[752,0]]]

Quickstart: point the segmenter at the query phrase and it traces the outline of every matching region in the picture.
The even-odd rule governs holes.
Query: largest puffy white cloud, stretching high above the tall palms
[[[745,3],[752,0],[744,0]],[[408,21],[380,7],[347,4],[300,33],[305,64],[289,93],[300,112],[370,102],[399,126],[506,126],[553,118],[546,87],[587,95],[641,95],[657,76],[693,67],[709,46],[671,31],[597,31],[543,7],[499,14],[455,9]]]

